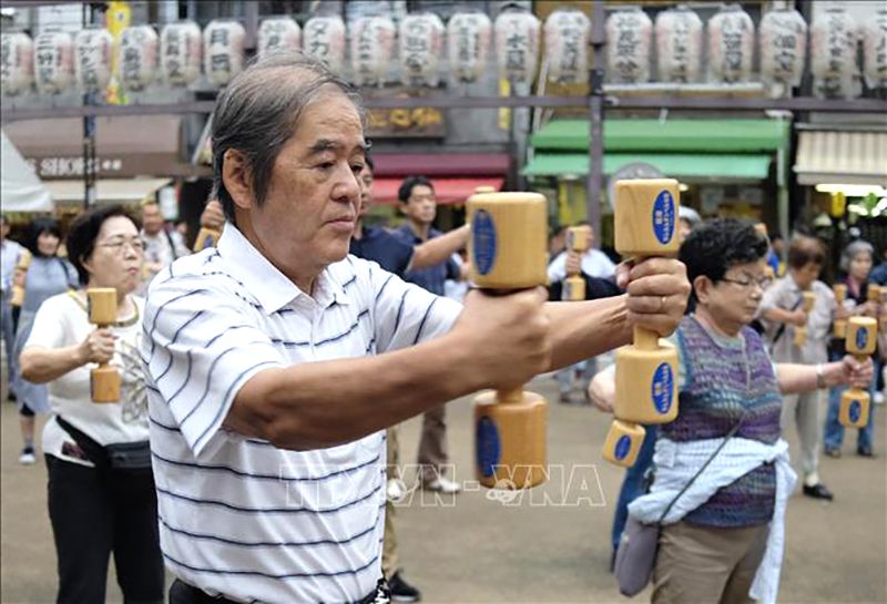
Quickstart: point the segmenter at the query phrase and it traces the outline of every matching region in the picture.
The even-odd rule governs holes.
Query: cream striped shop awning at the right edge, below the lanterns
[[[794,171],[802,185],[887,186],[887,132],[801,132]]]

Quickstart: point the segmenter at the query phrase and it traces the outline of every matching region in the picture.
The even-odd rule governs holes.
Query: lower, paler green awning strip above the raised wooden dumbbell
[[[604,174],[625,164],[643,162],[656,166],[670,178],[683,181],[762,181],[769,173],[769,155],[703,155],[679,153],[608,153]],[[583,153],[537,153],[521,171],[524,176],[584,177],[589,156]]]

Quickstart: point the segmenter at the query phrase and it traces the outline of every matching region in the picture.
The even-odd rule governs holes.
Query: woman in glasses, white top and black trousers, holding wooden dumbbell
[[[68,254],[82,287],[40,307],[21,356],[22,377],[49,385],[53,413],[43,429],[43,452],[58,602],[104,602],[112,552],[124,601],[162,602],[163,562],[137,352],[144,300],[132,295],[144,244],[121,206],[105,206],[74,221]],[[116,289],[118,320],[109,328],[89,323],[86,290],[96,287]],[[121,376],[119,403],[91,400],[90,369],[105,361]]]

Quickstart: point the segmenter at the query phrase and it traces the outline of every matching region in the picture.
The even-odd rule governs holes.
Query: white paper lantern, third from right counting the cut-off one
[[[807,55],[807,23],[796,10],[774,10],[761,21],[761,76],[764,82],[799,86]]]

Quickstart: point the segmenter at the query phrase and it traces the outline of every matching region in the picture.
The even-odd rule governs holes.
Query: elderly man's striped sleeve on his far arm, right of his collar
[[[386,352],[432,340],[450,330],[462,305],[405,283],[370,264],[376,350]]]

